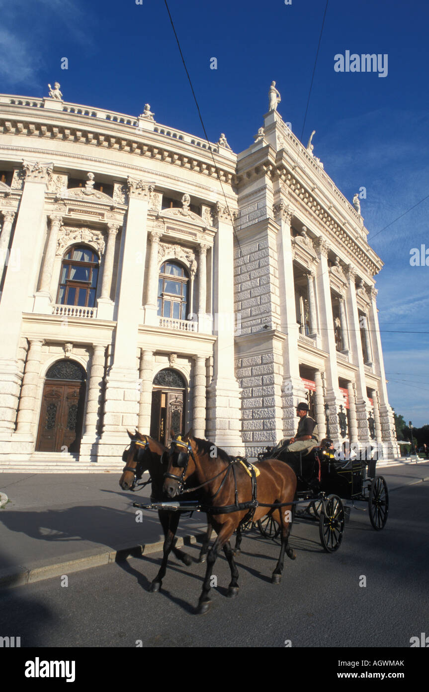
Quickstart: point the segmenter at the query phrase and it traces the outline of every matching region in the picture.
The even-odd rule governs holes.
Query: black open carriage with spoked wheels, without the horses
[[[388,520],[389,494],[383,476],[376,475],[376,460],[336,459],[334,450],[314,447],[309,452],[273,452],[267,448],[258,460],[281,459],[294,469],[298,485],[294,517],[318,522],[321,544],[327,552],[339,549],[350,507],[343,500],[366,502],[372,527],[380,531]],[[266,538],[276,538],[278,526],[265,516],[257,522]]]

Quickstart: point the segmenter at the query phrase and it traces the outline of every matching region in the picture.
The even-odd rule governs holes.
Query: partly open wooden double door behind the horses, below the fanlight
[[[183,435],[184,391],[154,389],[152,392],[151,437],[169,446],[170,430]]]

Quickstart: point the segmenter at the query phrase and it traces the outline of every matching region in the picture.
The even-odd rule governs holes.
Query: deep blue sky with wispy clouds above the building
[[[329,1],[304,130],[325,0],[169,8],[210,140],[225,132],[236,152],[253,143],[276,80],[283,119],[305,144],[316,130],[314,154],[345,197],[365,186],[368,239],[385,263],[376,288],[390,403],[429,423],[429,266],[410,266],[412,248],[429,249],[429,199],[396,220],[429,195],[429,3]],[[3,93],[48,95],[57,80],[66,101],[134,116],[149,102],[158,122],[202,135],[163,0],[0,0],[0,16]],[[337,73],[345,51],[387,54],[387,76]]]

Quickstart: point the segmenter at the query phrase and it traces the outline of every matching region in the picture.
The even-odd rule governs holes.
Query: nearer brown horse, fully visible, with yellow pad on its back
[[[213,449],[217,454],[214,458]],[[290,520],[292,520],[292,503],[296,492],[296,475],[290,466],[278,459],[266,459],[258,463],[258,469],[260,471],[257,478],[258,503],[277,505],[277,507],[261,507],[258,504],[253,520],[257,521],[267,514],[280,526],[280,556],[271,576],[271,583],[278,584],[283,571],[285,552],[292,560],[296,557],[292,548],[287,545]],[[164,490],[170,498],[182,492],[185,481],[189,487],[200,486],[202,507],[204,511],[207,507],[211,524],[218,534],[207,556],[207,572],[198,602],[198,612],[207,612],[210,604],[211,573],[221,548],[225,552],[231,570],[231,583],[227,595],[234,597],[238,594],[238,570],[233,561],[229,539],[234,529],[247,516],[248,509],[242,508],[224,513],[222,509],[228,507],[234,510],[237,503],[248,503],[252,500],[251,477],[240,462],[231,459],[224,450],[216,448],[211,442],[192,437],[191,430],[184,439],[180,436],[173,439],[169,451],[169,466],[165,475]]]

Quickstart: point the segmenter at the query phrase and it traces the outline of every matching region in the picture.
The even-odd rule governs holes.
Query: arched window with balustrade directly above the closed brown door
[[[91,248],[75,246],[64,255],[57,304],[94,307],[99,259]]]

